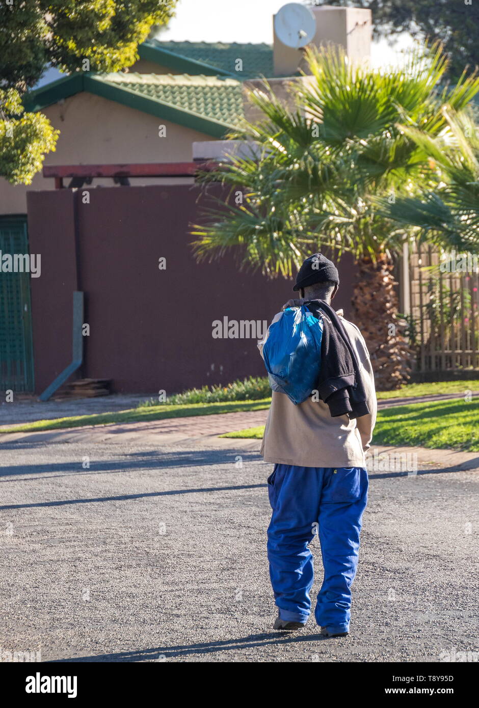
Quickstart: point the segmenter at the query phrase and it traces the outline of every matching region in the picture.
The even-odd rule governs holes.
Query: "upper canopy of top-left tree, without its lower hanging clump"
[[[24,91],[51,65],[117,72],[173,15],[176,0],[13,0],[0,4],[0,86]],[[86,68],[87,67],[87,68]]]

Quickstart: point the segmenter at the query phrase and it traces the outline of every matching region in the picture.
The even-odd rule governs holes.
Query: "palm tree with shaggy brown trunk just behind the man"
[[[265,82],[249,92],[259,120],[230,134],[249,146],[203,174],[229,189],[201,212],[198,259],[235,251],[241,265],[291,277],[322,249],[353,253],[354,321],[363,331],[378,387],[399,387],[411,351],[398,331],[395,254],[410,227],[391,222],[373,198],[416,195],[427,169],[417,143],[399,123],[439,135],[444,105],[462,111],[479,90],[475,75],[439,89],[447,59],[439,46],[412,53],[402,68],[351,64],[341,50],[310,50],[310,76],[291,84],[290,105]]]

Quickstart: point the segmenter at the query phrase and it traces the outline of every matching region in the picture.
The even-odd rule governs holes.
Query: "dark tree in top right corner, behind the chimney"
[[[479,64],[479,4],[475,0],[315,0],[316,5],[369,8],[378,38],[393,40],[402,32],[440,41],[449,56],[449,73],[461,76]]]

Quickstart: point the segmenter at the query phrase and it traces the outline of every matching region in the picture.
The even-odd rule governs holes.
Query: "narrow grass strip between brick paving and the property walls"
[[[398,391],[378,393],[378,399],[393,399],[409,396],[424,396],[427,394],[461,393],[466,390],[479,390],[479,380],[448,381],[433,384],[407,384]],[[104,426],[108,423],[133,423],[137,421],[160,421],[164,418],[186,418],[188,416],[208,416],[212,413],[233,413],[235,411],[261,411],[269,407],[271,399],[258,401],[225,401],[207,404],[177,404],[174,406],[138,406],[126,411],[113,413],[96,413],[87,416],[71,416],[69,418],[52,418],[51,420],[19,423],[1,428],[0,433],[28,433],[36,430],[60,430],[62,428],[77,428],[79,426]],[[239,437],[239,435],[237,435]],[[241,437],[247,437],[242,435]],[[255,436],[253,436],[255,437]],[[259,437],[262,437],[259,435]]]

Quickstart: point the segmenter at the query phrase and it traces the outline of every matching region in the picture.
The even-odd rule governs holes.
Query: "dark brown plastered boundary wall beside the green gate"
[[[89,204],[82,203],[89,190]],[[35,383],[40,393],[71,360],[74,209],[79,230],[79,290],[86,299],[85,377],[113,379],[118,392],[167,394],[264,375],[256,338],[213,339],[213,320],[266,320],[292,283],[239,270],[232,256],[193,258],[188,224],[198,220],[198,188],[186,185],[81,188],[30,193],[30,249],[42,255],[32,280]],[[159,258],[167,259],[159,270]],[[351,261],[340,264],[349,307]],[[347,314],[347,313],[346,313]]]

